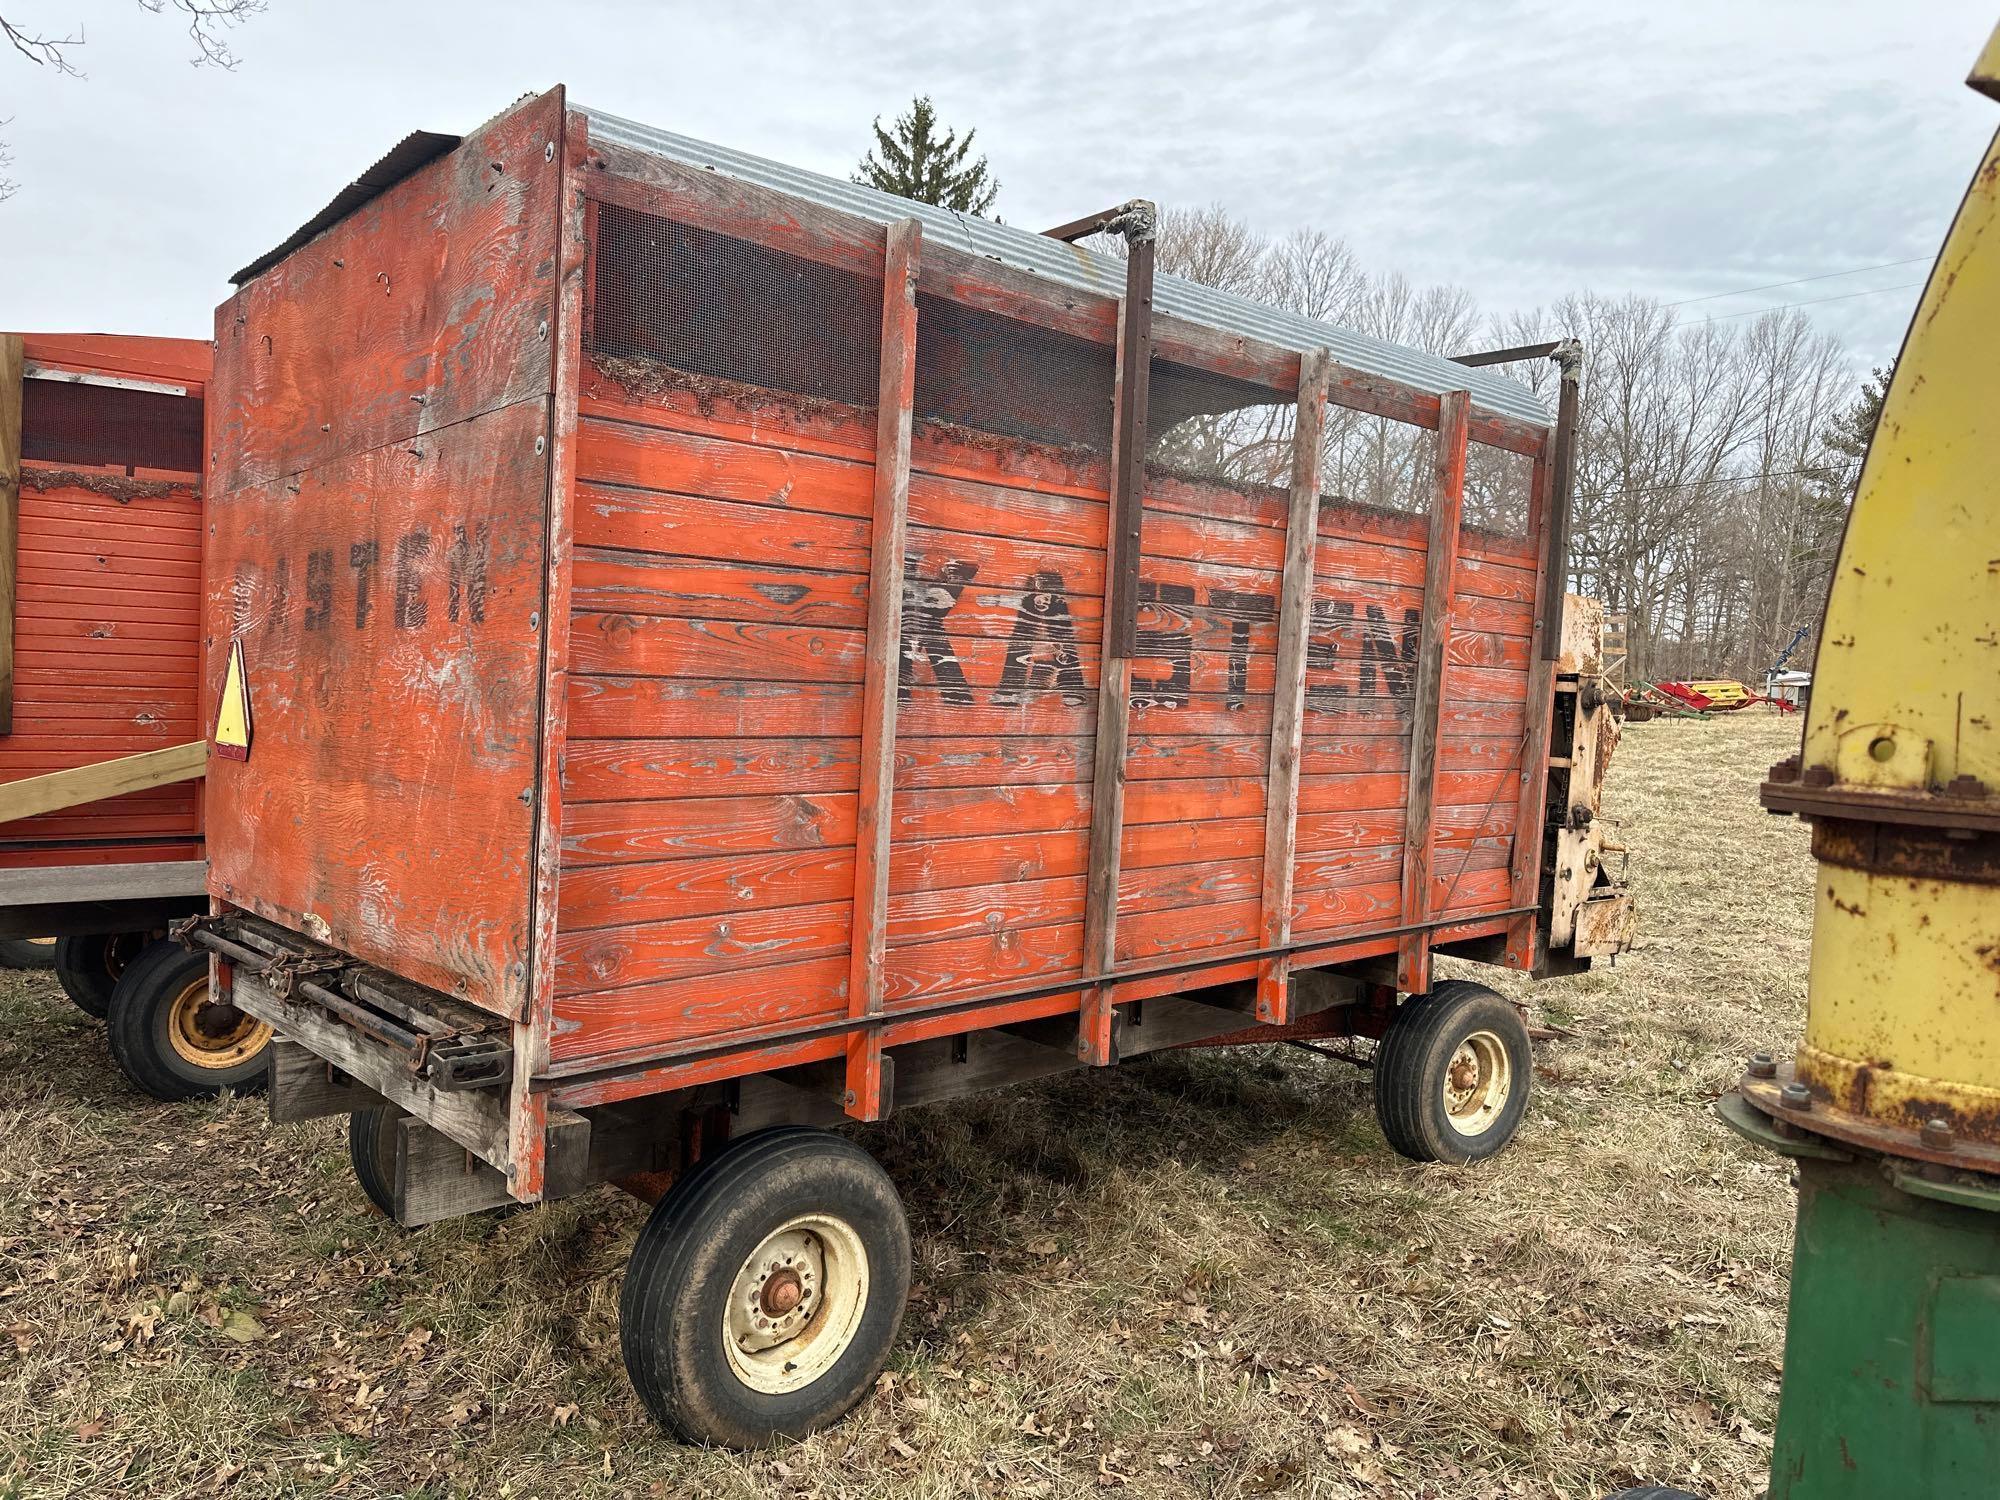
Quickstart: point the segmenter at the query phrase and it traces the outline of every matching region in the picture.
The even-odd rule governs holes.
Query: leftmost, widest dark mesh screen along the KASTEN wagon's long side
[[[616,204],[594,258],[592,354],[874,406],[880,282]]]

